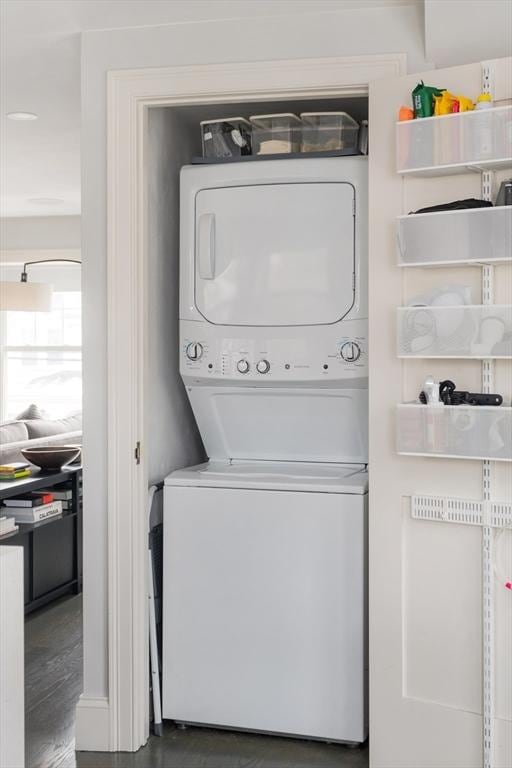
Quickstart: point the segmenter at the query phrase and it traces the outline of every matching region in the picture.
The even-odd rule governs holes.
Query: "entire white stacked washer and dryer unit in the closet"
[[[367,186],[365,157],[182,170],[209,461],[165,481],[165,718],[366,739]]]

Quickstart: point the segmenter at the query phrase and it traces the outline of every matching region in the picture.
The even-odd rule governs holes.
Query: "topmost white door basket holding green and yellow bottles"
[[[397,123],[397,171],[438,176],[512,165],[512,106]]]

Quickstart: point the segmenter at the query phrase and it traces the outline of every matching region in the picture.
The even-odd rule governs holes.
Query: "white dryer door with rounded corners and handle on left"
[[[195,258],[196,306],[210,323],[335,323],[354,301],[354,187],[201,190]]]

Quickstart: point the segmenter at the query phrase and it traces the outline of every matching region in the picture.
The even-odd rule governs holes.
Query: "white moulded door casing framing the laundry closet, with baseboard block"
[[[109,696],[108,702],[82,697],[77,710],[80,749],[136,751],[149,732],[144,418],[148,109],[365,94],[370,81],[404,71],[405,54],[388,54],[109,73]],[[134,457],[137,442],[140,464]]]

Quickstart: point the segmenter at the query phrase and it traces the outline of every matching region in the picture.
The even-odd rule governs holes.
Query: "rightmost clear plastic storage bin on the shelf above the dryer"
[[[346,112],[302,112],[302,152],[357,150],[359,125]]]

